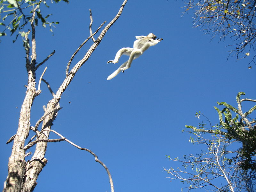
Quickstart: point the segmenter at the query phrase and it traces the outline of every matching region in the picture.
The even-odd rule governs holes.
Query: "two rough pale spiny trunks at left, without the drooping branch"
[[[108,29],[120,17],[126,2],[127,2],[127,0],[124,0],[122,6],[119,9],[119,12],[115,16],[115,18],[112,21],[110,21],[108,23],[108,25],[102,30],[102,32],[100,33],[97,40],[94,41],[94,43],[92,44],[90,49],[84,55],[84,58],[82,60],[80,60],[71,69],[70,73],[68,73],[68,70],[67,70],[66,78],[64,79],[63,83],[60,85],[58,91],[56,92],[56,94],[52,93],[53,98],[52,98],[52,100],[50,100],[48,102],[47,107],[45,108],[45,111],[44,111],[44,115],[41,117],[41,119],[38,121],[38,123],[36,123],[35,127],[31,127],[31,125],[30,125],[31,106],[33,104],[35,97],[37,95],[39,95],[41,92],[40,90],[36,91],[36,82],[35,82],[36,69],[38,68],[38,66],[36,66],[36,40],[35,40],[34,18],[35,18],[36,9],[39,7],[39,4],[34,9],[34,13],[33,13],[32,19],[31,19],[31,28],[32,28],[31,62],[29,60],[29,47],[27,46],[27,48],[28,48],[27,62],[26,62],[26,68],[28,70],[27,92],[26,92],[26,96],[25,96],[24,102],[21,107],[21,111],[20,111],[18,131],[13,140],[12,154],[9,158],[9,163],[8,163],[8,176],[7,176],[7,179],[4,184],[3,192],[31,192],[36,187],[36,184],[37,184],[36,180],[37,180],[40,172],[42,171],[42,169],[44,168],[44,166],[47,163],[47,159],[44,158],[44,155],[45,155],[45,152],[47,149],[47,140],[48,140],[49,133],[50,133],[50,131],[47,131],[47,130],[45,130],[43,132],[39,132],[39,131],[37,131],[37,127],[41,122],[43,122],[42,130],[44,130],[44,129],[50,130],[51,129],[53,121],[55,120],[55,118],[58,114],[58,110],[60,109],[59,101],[60,101],[60,97],[61,97],[62,93],[66,90],[68,85],[71,83],[73,77],[76,75],[76,72],[79,70],[79,68],[82,67],[82,65],[89,59],[92,52],[100,44],[101,40],[103,39],[103,37],[106,34],[106,32],[108,31]],[[99,29],[100,28],[98,28],[96,30],[96,32],[98,32]],[[28,36],[28,33],[27,33],[27,36]],[[87,40],[89,40],[94,34],[91,34],[91,36]],[[26,35],[25,35],[25,38],[26,38]],[[26,38],[26,40],[28,43],[28,38]],[[85,42],[87,42],[87,40]],[[78,50],[81,48],[81,46],[78,48]],[[75,52],[75,54],[76,54],[76,52]],[[52,54],[54,54],[54,52],[52,52]],[[52,54],[49,55],[47,57],[47,59],[50,56],[52,56]],[[74,57],[74,55],[72,57]],[[72,58],[71,58],[71,60],[72,60]],[[42,63],[44,63],[44,61]],[[41,63],[38,65],[41,65]],[[41,78],[40,78],[40,80],[41,80]],[[32,158],[26,162],[25,161],[25,156],[26,156],[25,152],[26,152],[27,148],[24,148],[25,147],[24,144],[25,144],[26,138],[28,137],[29,130],[33,130],[34,132],[36,132],[36,141],[38,141],[38,142],[36,142],[36,149],[35,149],[35,152],[34,152]],[[11,141],[12,141],[12,138],[7,143],[9,143]]]

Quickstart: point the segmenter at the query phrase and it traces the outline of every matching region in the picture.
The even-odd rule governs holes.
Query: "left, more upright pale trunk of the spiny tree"
[[[35,41],[35,26],[33,24],[33,21],[35,18],[36,9],[38,7],[39,5],[37,5],[33,10],[34,13],[31,19],[32,20],[31,21],[31,27],[32,27],[32,61],[31,63],[34,63],[34,64],[36,63],[36,52],[35,52],[36,41]],[[27,38],[27,42],[28,42],[28,36],[25,38]],[[28,53],[29,52],[27,50],[27,57],[28,57]],[[36,82],[35,82],[35,79],[36,79],[35,68],[33,65],[28,65],[28,58],[26,61],[26,68],[28,69],[27,92],[20,110],[18,130],[13,141],[12,154],[8,162],[8,176],[4,184],[3,192],[20,192],[24,182],[23,177],[26,170],[24,143],[26,138],[28,137],[28,133],[30,129],[31,106],[37,95]]]

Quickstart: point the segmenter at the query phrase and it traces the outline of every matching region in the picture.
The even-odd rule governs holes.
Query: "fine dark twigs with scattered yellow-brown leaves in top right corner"
[[[230,54],[237,60],[255,50],[255,0],[189,0],[186,11],[191,9],[195,10],[194,27],[203,28],[212,37],[219,34],[220,39],[233,38]]]

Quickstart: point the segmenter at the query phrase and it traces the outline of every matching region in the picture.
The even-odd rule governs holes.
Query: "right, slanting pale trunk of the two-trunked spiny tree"
[[[59,108],[59,101],[60,101],[62,93],[66,90],[68,85],[71,83],[73,77],[76,75],[76,72],[79,70],[79,68],[89,59],[89,57],[91,56],[92,52],[100,44],[102,38],[104,37],[104,35],[108,31],[108,29],[120,17],[126,2],[127,2],[127,0],[124,0],[123,4],[121,5],[121,8],[119,9],[119,11],[116,14],[116,16],[114,17],[114,19],[112,21],[110,21],[109,24],[102,30],[102,32],[100,33],[100,36],[98,37],[98,39],[92,44],[90,49],[84,55],[84,58],[82,60],[80,60],[72,68],[70,73],[68,73],[68,76],[65,77],[65,79],[64,79],[63,83],[60,85],[57,93],[53,96],[52,100],[50,100],[48,102],[47,107],[45,109],[45,113],[46,114],[49,113],[50,111],[52,111],[53,109]],[[89,37],[89,39],[90,38],[91,38],[91,36]],[[53,112],[53,113],[49,114],[48,116],[46,116],[44,118],[44,120],[43,120],[42,129],[43,130],[50,130],[51,127],[52,127],[53,121],[55,120],[56,116],[57,116],[56,112]],[[40,136],[37,139],[38,140],[48,139],[49,132],[50,131],[44,131],[44,134],[40,134]],[[36,180],[38,178],[38,175],[41,172],[41,170],[43,169],[43,167],[45,166],[45,163],[42,162],[42,160],[44,159],[46,148],[47,148],[47,142],[38,142],[38,143],[36,143],[35,153],[34,153],[33,157],[31,158],[31,160],[29,161],[29,164],[27,164],[27,166],[26,166],[26,173],[25,173],[25,175],[23,177],[24,184],[23,184],[22,188],[23,188],[24,192],[25,191],[29,192],[29,191],[33,190],[33,188],[36,186]],[[100,163],[100,161],[98,161],[98,160],[97,160],[97,162]]]

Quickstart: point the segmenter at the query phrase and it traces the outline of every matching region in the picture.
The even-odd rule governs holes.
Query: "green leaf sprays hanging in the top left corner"
[[[68,3],[68,0],[51,0],[51,3],[58,3],[64,1]],[[30,23],[31,13],[33,12],[36,5],[46,4],[47,1],[43,0],[0,0],[0,36],[6,36],[6,30],[11,32],[11,36],[16,33],[16,41],[19,34],[24,34],[24,26]],[[49,16],[43,16],[40,8],[36,10],[35,24],[38,25],[38,21],[41,21],[42,26],[45,28],[49,25],[50,31],[52,32],[53,24],[58,24],[59,22],[48,21]],[[12,17],[11,17],[12,16]]]

